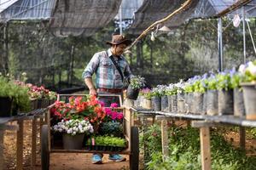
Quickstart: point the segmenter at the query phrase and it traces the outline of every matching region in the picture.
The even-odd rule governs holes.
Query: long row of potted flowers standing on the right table
[[[145,107],[145,101],[151,99],[154,111],[235,116],[247,112],[247,119],[255,119],[255,81],[256,61],[241,65],[239,71],[207,73],[186,82],[143,89],[138,100]],[[146,108],[150,109],[150,105]]]

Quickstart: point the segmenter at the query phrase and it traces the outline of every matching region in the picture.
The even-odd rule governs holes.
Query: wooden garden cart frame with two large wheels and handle
[[[68,98],[71,96],[79,97],[84,96],[85,94],[59,94],[58,100],[68,101]],[[41,136],[41,163],[42,169],[49,169],[49,155],[50,153],[101,153],[101,154],[122,154],[130,156],[130,169],[138,169],[138,160],[139,160],[139,137],[138,137],[138,128],[134,126],[133,119],[134,116],[131,115],[130,108],[122,106],[121,96],[118,94],[99,94],[98,96],[102,97],[119,97],[120,105],[119,111],[123,112],[123,133],[125,139],[128,141],[128,147],[125,150],[121,151],[109,151],[109,150],[86,150],[84,147],[82,150],[64,150],[61,144],[56,144],[53,142],[53,133],[50,128],[50,109],[55,105],[49,106],[48,115],[46,116],[46,124],[42,127],[42,136]]]

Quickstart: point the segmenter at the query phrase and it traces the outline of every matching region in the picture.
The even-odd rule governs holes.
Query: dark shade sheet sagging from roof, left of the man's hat
[[[56,1],[50,31],[58,37],[90,36],[113,20],[120,3],[121,0]]]

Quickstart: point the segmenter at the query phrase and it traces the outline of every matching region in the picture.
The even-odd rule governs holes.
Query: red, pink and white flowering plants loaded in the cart
[[[70,97],[68,103],[55,101],[50,113],[51,129],[63,135],[63,147],[66,150],[81,149],[85,143],[83,141],[89,141],[90,137],[96,141],[86,144],[87,147],[93,145],[90,150],[96,150],[96,145],[109,145],[109,136],[113,138],[112,146],[121,147],[120,142],[115,144],[114,141],[118,141],[116,137],[123,137],[123,113],[119,112],[115,103],[108,108],[96,96]],[[102,135],[109,138],[105,136],[103,140],[103,137],[99,137]]]

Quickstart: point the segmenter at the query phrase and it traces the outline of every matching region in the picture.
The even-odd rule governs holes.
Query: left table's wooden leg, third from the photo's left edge
[[[32,169],[36,166],[37,161],[37,118],[36,116],[32,119],[32,157],[31,157],[31,167]]]

